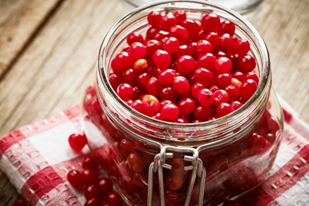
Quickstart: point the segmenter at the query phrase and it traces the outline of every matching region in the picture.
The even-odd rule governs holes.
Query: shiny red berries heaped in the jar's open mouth
[[[255,93],[259,78],[250,43],[214,13],[148,14],[144,38],[133,32],[111,62],[109,82],[137,111],[163,121],[196,123],[225,116]]]

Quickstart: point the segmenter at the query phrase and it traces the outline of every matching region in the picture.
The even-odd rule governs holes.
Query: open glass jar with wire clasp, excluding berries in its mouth
[[[260,83],[242,107],[227,116],[178,124],[150,118],[118,98],[108,76],[111,60],[134,31],[145,34],[147,14],[184,9],[190,19],[213,12],[236,25],[250,42]],[[83,102],[84,129],[92,151],[131,206],[217,205],[263,181],[274,163],[283,129],[272,91],[269,54],[258,31],[244,17],[202,0],[178,0],[139,7],[106,35],[99,53],[96,85]]]

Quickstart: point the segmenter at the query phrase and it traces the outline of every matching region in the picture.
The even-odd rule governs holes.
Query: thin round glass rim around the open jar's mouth
[[[259,47],[262,51],[261,55],[262,55],[262,59],[264,60],[262,62],[262,78],[261,81],[258,85],[258,88],[256,90],[256,92],[254,93],[254,95],[246,102],[244,103],[240,108],[238,108],[237,110],[231,112],[230,114],[214,119],[214,120],[210,120],[210,121],[205,121],[205,122],[198,122],[198,123],[175,123],[175,122],[167,122],[167,121],[162,121],[162,120],[158,120],[158,119],[154,119],[150,116],[144,115],[140,112],[138,112],[137,110],[133,109],[132,107],[130,107],[128,104],[126,104],[124,101],[122,101],[118,95],[116,94],[116,92],[114,91],[114,89],[111,87],[109,81],[108,81],[108,74],[107,72],[102,72],[102,68],[100,68],[99,65],[105,65],[106,59],[108,58],[107,56],[107,45],[109,43],[109,40],[112,38],[112,36],[114,35],[114,33],[117,31],[117,29],[120,27],[120,25],[122,24],[122,22],[124,22],[125,20],[129,19],[130,17],[134,16],[136,13],[141,12],[145,9],[148,8],[152,8],[154,6],[158,6],[160,4],[166,4],[166,3],[180,3],[180,2],[184,2],[184,3],[198,3],[198,4],[202,4],[204,6],[212,6],[214,8],[220,9],[226,13],[228,13],[229,15],[232,15],[233,17],[237,18],[238,20],[240,20],[242,23],[244,23],[247,28],[254,34],[254,36],[257,38],[258,43],[259,43]],[[103,62],[102,62],[103,61]],[[210,1],[204,1],[204,0],[162,0],[162,1],[156,1],[155,3],[150,3],[150,4],[146,4],[143,6],[140,6],[134,10],[132,10],[131,12],[127,13],[125,16],[123,16],[116,24],[114,24],[114,26],[108,31],[108,33],[106,34],[101,47],[100,47],[100,52],[99,52],[99,56],[98,56],[98,62],[97,62],[97,72],[100,76],[100,83],[102,83],[104,86],[107,87],[108,92],[110,93],[110,95],[116,99],[116,101],[118,103],[121,104],[121,106],[123,106],[127,111],[131,112],[131,114],[133,114],[134,116],[143,119],[145,121],[151,121],[157,125],[163,125],[163,126],[167,126],[167,127],[172,127],[174,129],[181,129],[181,128],[203,128],[203,127],[208,127],[208,126],[213,126],[215,124],[218,123],[222,123],[226,120],[231,119],[232,117],[242,113],[243,111],[245,111],[248,107],[250,107],[250,105],[252,105],[253,103],[255,103],[258,98],[263,94],[263,92],[267,89],[267,85],[270,81],[270,58],[269,58],[269,53],[266,47],[266,44],[262,38],[262,36],[260,35],[260,33],[257,31],[257,29],[247,20],[245,19],[242,15],[240,15],[239,13],[237,13],[236,11],[229,9],[229,8],[225,8],[222,5],[219,5],[217,3],[214,2],[210,2]],[[104,70],[105,71],[105,70]]]

